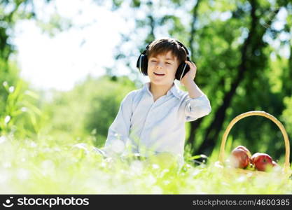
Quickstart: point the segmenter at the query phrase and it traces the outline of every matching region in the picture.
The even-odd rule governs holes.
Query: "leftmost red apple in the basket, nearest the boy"
[[[231,153],[231,164],[233,167],[244,169],[249,165],[249,154],[241,148],[235,148]]]

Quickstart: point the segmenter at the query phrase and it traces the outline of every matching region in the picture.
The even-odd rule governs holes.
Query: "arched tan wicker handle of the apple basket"
[[[289,167],[290,167],[290,163],[289,163],[289,158],[290,158],[290,144],[289,144],[289,139],[288,139],[288,135],[287,132],[284,128],[284,126],[281,124],[281,122],[279,120],[277,120],[277,118],[275,118],[274,116],[270,115],[269,113],[266,113],[265,111],[248,111],[246,113],[242,113],[239,116],[235,117],[228,125],[228,127],[226,128],[223,137],[222,137],[222,141],[221,141],[221,147],[220,147],[220,153],[219,153],[219,162],[221,162],[221,164],[223,164],[223,159],[224,159],[224,150],[225,150],[225,143],[226,143],[226,139],[227,136],[231,130],[231,128],[235,125],[235,123],[237,123],[237,121],[241,120],[242,118],[246,118],[249,116],[263,116],[265,118],[269,118],[270,120],[272,120],[281,130],[281,133],[283,134],[284,137],[284,141],[285,141],[285,162],[284,162],[284,172],[288,172]]]

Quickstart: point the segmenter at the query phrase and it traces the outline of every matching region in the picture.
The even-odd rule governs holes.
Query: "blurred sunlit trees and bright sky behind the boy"
[[[186,155],[217,154],[246,111],[272,114],[291,139],[288,0],[0,0],[0,136],[104,146],[123,97],[147,81],[139,53],[162,36],[188,47],[211,102],[186,123]],[[239,144],[284,156],[279,128],[260,116],[232,128],[227,150]]]

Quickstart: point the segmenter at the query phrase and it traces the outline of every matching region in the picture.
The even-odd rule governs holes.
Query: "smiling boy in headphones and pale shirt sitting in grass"
[[[186,47],[173,38],[150,43],[137,67],[150,82],[127,94],[121,102],[109,127],[104,152],[123,155],[126,145],[130,145],[132,153],[171,153],[182,163],[185,123],[211,112],[209,99],[194,82],[197,67],[190,62]],[[180,90],[175,79],[188,92]]]

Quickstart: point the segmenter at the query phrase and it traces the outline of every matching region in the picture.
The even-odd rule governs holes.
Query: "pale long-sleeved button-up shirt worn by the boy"
[[[207,116],[211,112],[205,94],[190,98],[174,83],[166,95],[155,102],[146,83],[127,94],[120,104],[116,119],[109,127],[105,149],[148,156],[153,153],[172,153],[183,158],[185,123]]]

